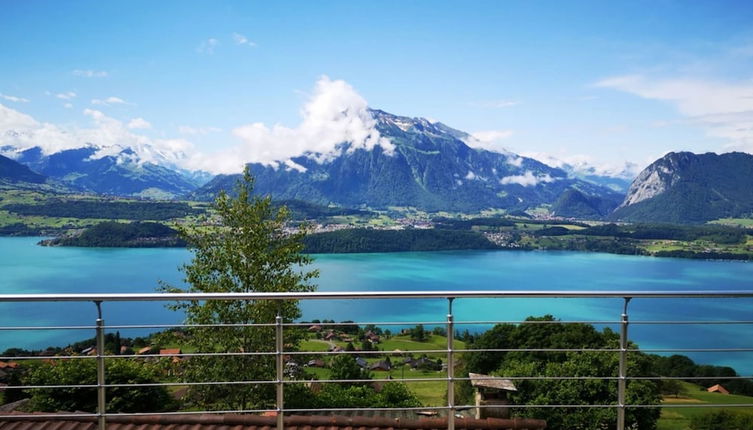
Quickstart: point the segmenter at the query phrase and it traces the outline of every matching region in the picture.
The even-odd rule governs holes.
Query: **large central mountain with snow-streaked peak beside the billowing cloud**
[[[331,157],[307,154],[279,166],[250,164],[256,190],[276,199],[429,211],[526,209],[552,203],[571,188],[621,199],[607,188],[568,178],[539,161],[471,148],[465,143],[471,136],[444,124],[379,110],[371,114],[377,130],[392,142],[393,153],[381,146],[353,150],[344,144]],[[212,198],[221,189],[231,190],[237,178],[217,176],[194,195]]]

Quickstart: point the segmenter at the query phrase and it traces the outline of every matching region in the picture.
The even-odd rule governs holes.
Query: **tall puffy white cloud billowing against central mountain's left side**
[[[302,120],[298,126],[242,125],[233,130],[242,141],[240,145],[201,155],[195,160],[200,162],[192,167],[217,173],[237,173],[244,163],[279,166],[300,155],[325,162],[339,153],[343,143],[349,144],[349,151],[380,146],[385,152],[392,153],[394,146],[376,130],[376,121],[367,108],[366,100],[347,82],[323,76],[301,109]]]

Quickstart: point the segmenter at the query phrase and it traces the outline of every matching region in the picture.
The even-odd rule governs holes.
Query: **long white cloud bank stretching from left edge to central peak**
[[[84,109],[82,113],[89,126],[61,127],[39,122],[0,104],[0,146],[18,150],[38,146],[45,154],[93,146],[97,148],[94,158],[111,155],[124,162],[153,162],[212,173],[237,173],[248,162],[304,171],[291,157],[306,155],[325,162],[346,150],[345,147],[354,151],[380,146],[388,154],[394,150],[392,143],[376,130],[366,100],[345,81],[326,76],[317,81],[296,127],[242,125],[233,130],[240,144],[209,154],[197,152],[185,139],[153,139],[136,133],[135,130],[148,125],[143,118],[124,123],[95,109]],[[217,131],[221,130],[188,126],[182,129],[184,134],[194,135]],[[125,148],[131,148],[136,156],[131,159],[122,154]]]

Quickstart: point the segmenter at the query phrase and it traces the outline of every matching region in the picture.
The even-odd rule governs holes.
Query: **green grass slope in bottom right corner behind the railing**
[[[737,396],[734,394],[724,395],[719,393],[708,393],[702,390],[701,387],[695,384],[687,382],[682,383],[685,387],[685,393],[679,398],[674,396],[667,396],[664,398],[662,404],[666,407],[662,408],[661,419],[657,430],[689,430],[690,420],[697,415],[703,415],[706,412],[712,410],[724,409],[723,407],[708,407],[708,408],[689,408],[689,407],[671,407],[672,405],[703,405],[703,404],[751,404],[753,405],[753,397]],[[753,410],[753,406],[749,408],[735,407],[730,408],[733,410]],[[719,429],[726,430],[726,429]],[[732,429],[730,429],[732,430]]]

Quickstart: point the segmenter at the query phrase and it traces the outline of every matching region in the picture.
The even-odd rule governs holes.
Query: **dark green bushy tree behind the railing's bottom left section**
[[[159,380],[158,370],[140,360],[105,361],[108,384],[149,384]],[[94,360],[55,360],[31,367],[22,377],[24,385],[94,385]],[[97,410],[96,388],[38,388],[29,390],[33,411]],[[108,412],[159,412],[169,410],[172,397],[165,387],[113,387],[106,392]]]

